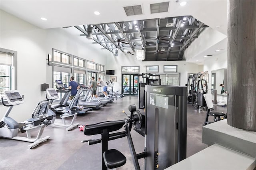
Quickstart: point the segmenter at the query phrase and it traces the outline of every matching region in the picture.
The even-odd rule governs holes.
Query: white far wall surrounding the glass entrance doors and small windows
[[[140,73],[146,73],[146,65],[159,65],[159,73],[164,73],[164,65],[178,65],[178,73],[180,73],[180,85],[184,86],[187,83],[188,73],[198,73],[203,71],[202,65],[187,63],[186,61],[140,61],[135,55],[127,54],[118,51],[118,56],[115,57],[111,53],[108,56],[106,68],[115,70],[117,82],[114,85],[114,91],[121,91],[122,86],[122,66],[140,66]],[[109,76],[106,77],[109,79]]]

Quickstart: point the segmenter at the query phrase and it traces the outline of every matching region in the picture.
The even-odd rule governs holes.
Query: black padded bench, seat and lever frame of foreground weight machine
[[[129,111],[130,115],[127,115],[128,119],[120,121],[106,121],[93,125],[86,125],[84,127],[85,135],[101,134],[100,139],[83,140],[82,142],[88,142],[88,145],[100,142],[102,143],[102,170],[107,170],[107,168],[117,168],[126,163],[126,157],[120,151],[116,149],[108,150],[108,140],[127,136],[130,152],[132,154],[132,161],[136,170],[140,170],[138,159],[146,157],[145,152],[136,154],[130,134],[132,126],[136,129],[140,129],[144,125],[144,120],[142,119],[140,111],[136,110],[135,105],[129,105]],[[123,126],[125,129],[124,131],[111,134],[109,133],[119,130]]]

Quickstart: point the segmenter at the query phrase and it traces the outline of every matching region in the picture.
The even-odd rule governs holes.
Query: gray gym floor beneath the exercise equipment
[[[89,125],[101,121],[121,120],[126,118],[122,113],[128,111],[129,104],[138,106],[136,96],[126,96],[115,100],[114,103],[102,107],[100,110],[93,110],[83,116],[78,116],[76,122],[80,125]],[[214,106],[216,111],[226,112],[226,107]],[[15,113],[10,113],[10,116]],[[188,105],[188,128],[187,128],[187,157],[206,148],[202,143],[202,124],[204,123],[206,111],[199,111]],[[60,120],[58,120],[60,121]],[[132,130],[132,139],[136,152],[143,152],[144,137]],[[24,135],[24,134],[21,134]],[[99,170],[101,169],[101,144],[88,146],[81,143],[81,140],[97,139],[99,135],[85,136],[78,128],[66,131],[62,127],[48,126],[42,135],[50,135],[50,140],[28,149],[28,142],[1,138],[0,160],[1,170]],[[127,162],[120,170],[133,170],[132,158],[126,138],[111,140],[108,148],[116,148],[122,152]],[[140,167],[144,169],[144,160],[140,160]]]

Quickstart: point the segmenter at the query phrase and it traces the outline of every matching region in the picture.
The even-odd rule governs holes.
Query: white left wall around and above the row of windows
[[[64,28],[40,29],[2,10],[0,12],[1,47],[18,52],[17,90],[24,95],[25,102],[15,106],[10,113],[17,122],[30,118],[36,104],[45,100],[40,85],[52,84],[52,69],[46,65],[47,55],[52,53],[52,48],[106,65],[106,52],[100,50],[100,45],[92,45],[89,40],[86,43],[82,37],[75,38]],[[0,106],[1,118],[6,109]]]

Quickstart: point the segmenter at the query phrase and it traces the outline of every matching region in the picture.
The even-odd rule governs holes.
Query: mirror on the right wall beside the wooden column
[[[217,90],[217,95],[227,95],[227,68],[213,70],[211,77],[211,91]]]

